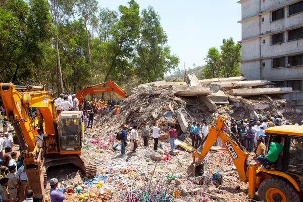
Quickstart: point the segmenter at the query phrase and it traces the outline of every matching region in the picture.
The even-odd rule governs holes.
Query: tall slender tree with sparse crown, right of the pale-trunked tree
[[[92,71],[91,71],[91,54],[90,54],[90,32],[89,26],[92,26],[93,19],[95,19],[95,13],[98,10],[98,3],[96,0],[78,0],[78,13],[83,18],[83,23],[86,32],[86,40],[87,40],[87,59],[89,65],[89,76],[90,76],[90,84],[92,84]]]

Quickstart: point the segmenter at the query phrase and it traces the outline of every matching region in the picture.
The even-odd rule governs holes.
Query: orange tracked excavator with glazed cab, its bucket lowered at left
[[[0,94],[6,115],[24,150],[24,172],[29,188],[44,194],[46,169],[50,166],[74,164],[87,177],[96,175],[94,159],[82,150],[84,123],[81,111],[62,112],[57,117],[53,92],[45,90],[45,86],[0,83]],[[34,109],[40,115],[38,127],[32,119]],[[43,130],[42,138],[37,136],[38,128]]]

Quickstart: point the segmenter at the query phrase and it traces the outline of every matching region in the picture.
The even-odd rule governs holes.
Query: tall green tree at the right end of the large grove
[[[141,82],[152,82],[164,79],[165,73],[175,70],[179,58],[171,55],[170,47],[166,45],[167,35],[164,32],[160,16],[149,6],[142,11],[140,37],[136,39],[135,58],[137,76]]]

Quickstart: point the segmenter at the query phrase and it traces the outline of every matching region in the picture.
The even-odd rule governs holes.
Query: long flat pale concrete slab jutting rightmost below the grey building
[[[252,96],[252,95],[261,95],[261,94],[285,94],[285,93],[294,93],[299,92],[298,90],[292,90],[291,87],[284,88],[242,88],[242,89],[233,89],[229,91],[231,95],[239,96]]]

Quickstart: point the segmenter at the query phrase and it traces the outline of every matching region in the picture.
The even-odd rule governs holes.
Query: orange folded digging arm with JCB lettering
[[[239,177],[242,181],[247,182],[247,159],[249,153],[246,151],[246,149],[238,142],[237,138],[234,136],[234,134],[229,130],[228,126],[225,123],[226,119],[223,117],[219,117],[211,126],[209,130],[208,136],[205,138],[203,143],[205,142],[205,145],[201,151],[200,154],[194,152],[192,154],[193,162],[195,162],[195,159],[198,159],[198,164],[201,164],[210,151],[213,144],[216,142],[217,138],[220,137],[222,140],[223,145],[226,147],[226,150],[228,151],[228,154],[230,155],[231,159],[233,160]],[[230,135],[228,135],[225,131],[229,131]],[[202,144],[203,144],[202,143]],[[201,144],[201,145],[202,145]],[[222,162],[227,163],[227,162]]]

